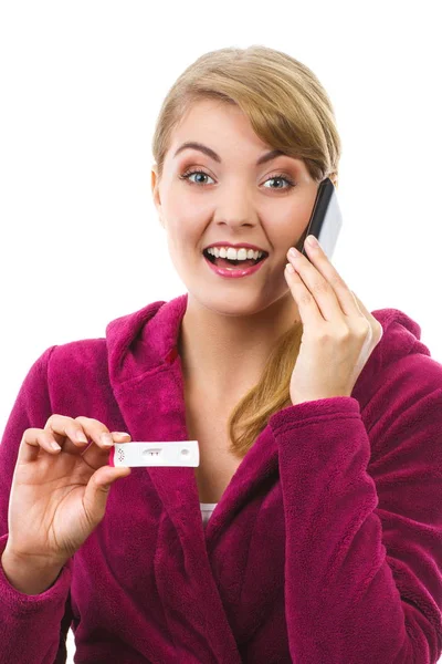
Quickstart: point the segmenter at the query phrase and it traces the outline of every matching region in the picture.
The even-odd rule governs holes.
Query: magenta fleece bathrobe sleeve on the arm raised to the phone
[[[442,653],[442,381],[381,376],[366,429],[333,397],[270,418],[296,664],[435,664]],[[407,365],[408,364],[408,365]],[[434,367],[434,365],[433,365]],[[424,369],[424,367],[423,367]]]

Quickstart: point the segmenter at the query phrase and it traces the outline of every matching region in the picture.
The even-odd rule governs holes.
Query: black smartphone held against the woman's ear
[[[332,259],[341,226],[343,216],[336,196],[336,188],[330,178],[327,177],[318,187],[312,216],[296,248],[308,259],[304,240],[308,235],[313,235],[318,239],[326,256]]]

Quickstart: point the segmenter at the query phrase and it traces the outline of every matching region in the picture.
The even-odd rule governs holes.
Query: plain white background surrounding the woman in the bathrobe
[[[110,320],[186,292],[151,200],[150,142],[176,77],[231,45],[285,51],[319,77],[343,139],[333,262],[370,311],[415,320],[442,362],[438,10],[0,3],[1,429],[46,347],[104,336]]]

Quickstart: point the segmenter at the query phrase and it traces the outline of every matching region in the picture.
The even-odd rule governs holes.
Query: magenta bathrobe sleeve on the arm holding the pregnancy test
[[[0,445],[0,561],[8,541],[8,506],[20,442],[27,428],[43,428],[52,414],[48,390],[48,349],[31,366],[9,416]],[[39,595],[15,590],[0,562],[0,664],[66,662],[71,624],[71,561]]]

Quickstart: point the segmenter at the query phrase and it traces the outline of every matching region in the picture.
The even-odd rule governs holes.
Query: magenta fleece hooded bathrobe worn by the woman
[[[24,429],[57,413],[189,439],[186,307],[154,302],[31,366],[0,446],[0,556]],[[20,593],[0,567],[0,663],[65,662],[70,626],[77,664],[435,663],[442,365],[407,314],[372,313],[383,336],[351,397],[272,415],[206,530],[193,468],[133,468],[49,590]]]

